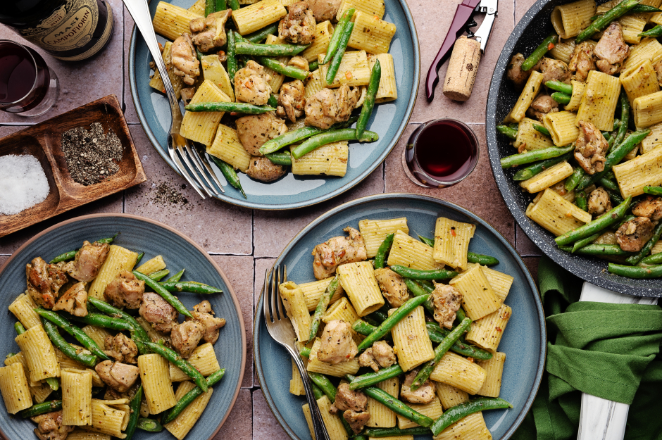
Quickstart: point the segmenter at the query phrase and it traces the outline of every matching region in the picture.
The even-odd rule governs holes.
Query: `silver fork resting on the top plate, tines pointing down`
[[[191,144],[189,144],[189,140],[180,134],[180,127],[182,125],[182,111],[180,109],[179,102],[177,102],[173,84],[170,83],[168,70],[165,68],[163,58],[161,58],[161,51],[158,49],[158,42],[156,42],[154,27],[151,25],[151,15],[149,13],[147,1],[123,1],[129,10],[129,13],[133,17],[138,30],[140,30],[140,33],[142,34],[142,37],[147,44],[147,49],[149,49],[152,58],[154,58],[154,63],[156,63],[158,73],[161,74],[161,79],[163,80],[165,94],[168,96],[168,102],[170,103],[170,113],[173,114],[173,122],[170,125],[170,133],[168,134],[167,142],[170,159],[173,160],[173,163],[175,163],[177,169],[180,170],[180,174],[187,180],[187,182],[189,182],[189,184],[197,191],[198,194],[200,194],[203,199],[205,196],[202,194],[201,189],[203,189],[210,197],[220,196],[220,192],[216,190],[213,183],[206,175],[205,169],[209,172],[209,175],[211,175],[213,181],[216,182],[218,188],[220,188],[220,191],[225,193],[225,189],[223,189],[223,186],[218,181],[218,178],[211,169],[207,159],[204,156],[200,156],[198,151],[193,146],[191,146]],[[182,160],[184,161],[183,163]]]

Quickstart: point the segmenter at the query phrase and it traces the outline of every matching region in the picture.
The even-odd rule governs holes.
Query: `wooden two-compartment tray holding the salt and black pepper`
[[[113,130],[122,142],[124,152],[118,163],[118,172],[108,180],[85,186],[69,175],[62,151],[62,134],[76,127],[89,130],[94,122],[101,123],[104,132]],[[14,215],[0,214],[0,237],[147,180],[115,95],[104,96],[0,139],[0,156],[6,154],[35,156],[44,168],[50,192],[46,200],[32,208]]]

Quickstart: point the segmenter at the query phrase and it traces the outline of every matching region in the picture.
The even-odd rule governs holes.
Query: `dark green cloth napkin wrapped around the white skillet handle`
[[[538,284],[547,364],[513,440],[577,438],[581,392],[630,404],[626,440],[662,440],[662,308],[577,302],[582,281],[547,257]]]

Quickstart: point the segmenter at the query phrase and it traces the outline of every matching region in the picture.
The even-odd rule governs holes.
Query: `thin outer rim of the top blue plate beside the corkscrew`
[[[339,196],[346,191],[349,191],[349,189],[354,188],[356,187],[356,185],[363,182],[363,180],[365,180],[366,177],[372,174],[373,171],[375,171],[380,165],[382,165],[382,163],[384,163],[386,158],[389,156],[391,151],[393,151],[396,144],[399,142],[400,138],[402,137],[402,134],[404,134],[404,130],[406,130],[406,127],[409,124],[409,121],[411,120],[411,115],[413,114],[413,108],[416,105],[416,99],[418,98],[418,89],[420,87],[420,44],[418,42],[418,31],[416,30],[416,23],[413,20],[413,15],[411,13],[411,9],[409,8],[407,1],[406,0],[397,0],[397,1],[399,2],[402,10],[404,11],[404,15],[409,27],[409,32],[411,33],[411,41],[413,42],[413,56],[414,56],[413,81],[415,87],[412,87],[413,92],[409,97],[409,101],[405,111],[406,116],[401,120],[395,136],[393,137],[392,141],[389,142],[387,148],[382,152],[382,154],[380,154],[380,156],[377,157],[377,159],[366,170],[364,170],[363,172],[361,172],[361,174],[355,177],[354,180],[347,182],[346,184],[344,184],[342,187],[339,187],[335,191],[327,192],[322,196],[318,196],[313,199],[308,199],[306,201],[295,202],[295,203],[281,203],[280,205],[269,205],[266,203],[255,203],[248,200],[234,199],[230,196],[226,196],[225,193],[220,194],[220,196],[212,196],[211,198],[218,199],[220,201],[225,201],[226,203],[230,203],[231,205],[242,206],[243,208],[259,209],[259,210],[287,210],[287,209],[305,208],[307,206],[313,206],[318,203],[322,203],[323,201],[333,199],[334,197]],[[159,156],[161,156],[163,162],[165,162],[165,164],[168,165],[170,169],[172,169],[174,172],[177,173],[177,175],[181,177],[180,172],[176,170],[173,167],[173,165],[170,164],[170,162],[165,160],[165,156],[167,156],[167,153],[165,153],[165,151],[161,149],[161,144],[158,143],[156,137],[154,136],[154,132],[151,131],[151,127],[149,127],[149,124],[146,122],[146,118],[142,110],[142,106],[139,106],[140,101],[137,96],[136,72],[135,72],[135,49],[136,49],[137,32],[138,32],[137,27],[134,24],[131,32],[131,39],[129,44],[129,85],[131,90],[131,98],[133,101],[133,106],[138,116],[140,125],[142,125],[142,128],[147,138],[149,139],[151,146],[156,150],[156,153]]]

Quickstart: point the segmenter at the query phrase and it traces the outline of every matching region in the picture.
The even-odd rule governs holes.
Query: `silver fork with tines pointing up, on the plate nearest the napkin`
[[[269,275],[271,275],[271,279],[269,279]],[[306,373],[306,367],[304,367],[304,362],[301,360],[301,356],[299,356],[299,353],[294,347],[294,339],[296,339],[294,327],[292,327],[292,322],[290,322],[289,318],[285,315],[285,310],[283,310],[282,306],[282,298],[280,298],[280,294],[278,293],[280,279],[280,266],[274,266],[272,270],[266,270],[264,273],[262,308],[267,330],[274,341],[285,347],[289,356],[292,356],[292,359],[294,359],[296,367],[299,368],[299,374],[304,381],[304,388],[306,389],[306,400],[308,400],[308,406],[311,409],[315,439],[330,440],[329,433],[322,420],[320,408],[313,397],[313,389],[311,387],[310,379],[308,378],[308,373]],[[282,280],[283,282],[287,281],[286,266],[283,266]],[[271,310],[269,310],[269,306],[271,306]]]

